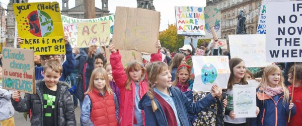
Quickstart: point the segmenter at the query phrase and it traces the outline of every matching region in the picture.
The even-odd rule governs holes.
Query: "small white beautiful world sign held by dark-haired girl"
[[[253,85],[234,85],[233,103],[236,118],[257,117],[256,87]]]

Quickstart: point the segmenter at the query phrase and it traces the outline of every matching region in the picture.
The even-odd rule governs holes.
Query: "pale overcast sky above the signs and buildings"
[[[9,3],[9,0],[0,0],[0,2],[7,5]],[[62,7],[61,0],[29,0],[29,2],[58,2],[60,4],[60,7]],[[154,0],[153,5],[155,6],[156,11],[161,12],[160,31],[163,31],[168,28],[168,22],[169,24],[175,23],[175,6],[205,7],[205,2],[205,0]],[[3,5],[3,7],[6,8],[6,5]],[[69,9],[73,8],[74,5],[75,0],[69,0]],[[96,7],[102,9],[101,0],[96,1],[95,5]],[[110,14],[115,13],[115,8],[117,6],[136,8],[137,3],[136,0],[109,0],[108,7]]]

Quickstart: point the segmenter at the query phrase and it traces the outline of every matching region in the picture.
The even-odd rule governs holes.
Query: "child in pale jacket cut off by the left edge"
[[[2,66],[0,65],[0,123],[3,126],[15,125],[14,107],[11,103],[13,91],[2,89]]]

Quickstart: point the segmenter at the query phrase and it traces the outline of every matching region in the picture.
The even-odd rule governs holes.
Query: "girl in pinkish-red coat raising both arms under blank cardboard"
[[[161,43],[156,44],[158,48],[157,54],[151,54],[151,61],[161,60],[160,52]],[[140,62],[129,62],[126,72],[121,62],[121,55],[110,44],[109,50],[110,64],[112,67],[112,76],[117,87],[120,89],[120,125],[144,125],[144,112],[138,108],[138,102],[142,96],[148,91],[147,79],[145,77],[146,70]],[[145,66],[146,67],[146,66]]]

